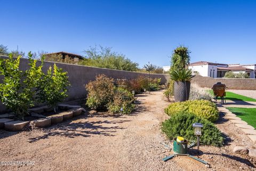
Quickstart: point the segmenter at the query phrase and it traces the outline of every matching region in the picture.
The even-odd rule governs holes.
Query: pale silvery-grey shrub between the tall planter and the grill
[[[190,87],[190,94],[189,94],[189,100],[209,100],[211,101],[214,96],[205,89],[197,86],[197,85],[191,85]]]

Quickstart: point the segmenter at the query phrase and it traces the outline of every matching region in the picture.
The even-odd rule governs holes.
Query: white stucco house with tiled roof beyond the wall
[[[256,78],[256,64],[241,65],[199,61],[190,63],[188,68],[203,77],[222,78],[226,72],[233,71],[245,72],[250,78]]]

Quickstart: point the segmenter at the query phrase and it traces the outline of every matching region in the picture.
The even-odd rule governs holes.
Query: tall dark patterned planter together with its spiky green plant
[[[170,72],[171,79],[174,80],[174,100],[183,102],[189,99],[190,80],[192,71],[190,69],[178,69]]]

